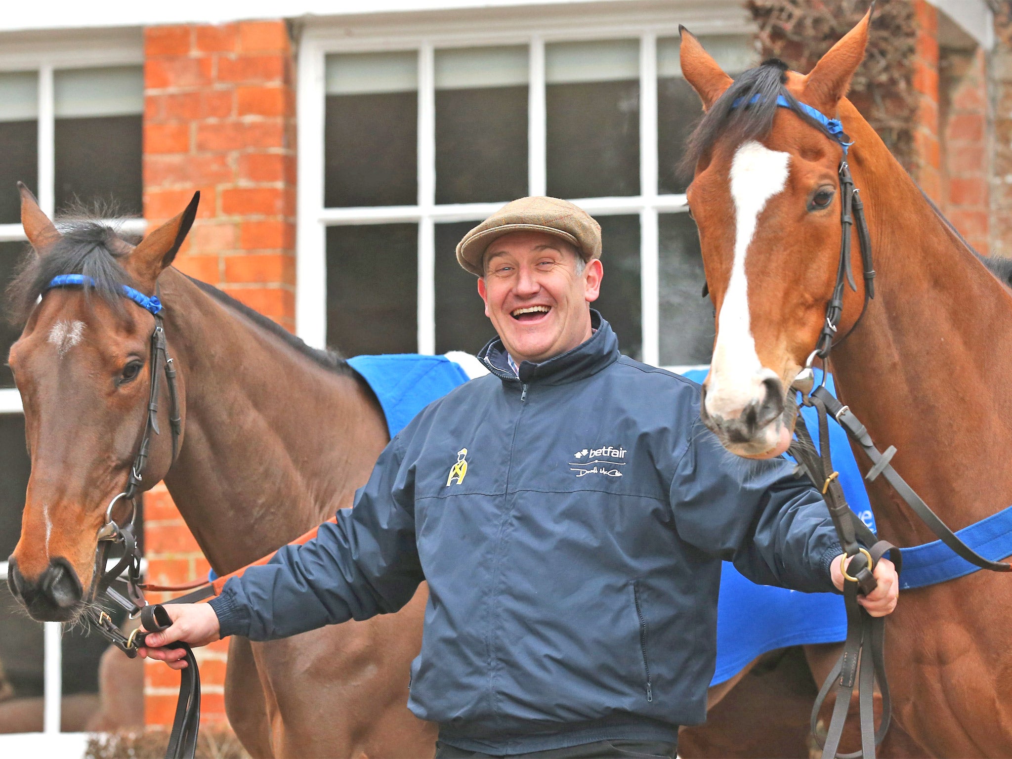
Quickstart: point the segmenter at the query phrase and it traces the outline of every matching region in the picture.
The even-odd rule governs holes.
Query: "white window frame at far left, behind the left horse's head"
[[[34,71],[38,74],[38,177],[37,198],[41,209],[53,217],[56,202],[56,145],[53,73],[66,69],[103,66],[143,66],[144,43],[140,29],[81,29],[64,32],[5,34],[0,52],[0,73]],[[121,229],[142,234],[143,219],[128,220]],[[0,242],[26,240],[20,224],[0,224]],[[6,360],[6,356],[3,356]],[[22,413],[21,396],[14,388],[0,388],[0,414]],[[6,580],[7,563],[0,563]],[[63,625],[44,625],[43,732],[60,733],[63,691]]]

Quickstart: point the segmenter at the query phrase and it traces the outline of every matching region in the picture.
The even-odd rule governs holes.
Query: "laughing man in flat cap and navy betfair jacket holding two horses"
[[[842,557],[788,462],[727,452],[698,386],[619,354],[590,309],[600,255],[597,223],[555,198],[469,232],[491,374],[398,434],[336,524],[208,604],[166,607],[149,644],[365,619],[427,580],[409,707],[439,724],[437,757],[675,756],[678,726],[705,720],[721,560],[816,592],[843,587]],[[881,615],[899,584],[889,561],[875,577],[861,603]]]

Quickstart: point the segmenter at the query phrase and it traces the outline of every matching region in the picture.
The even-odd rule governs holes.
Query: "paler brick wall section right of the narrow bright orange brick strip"
[[[990,241],[987,62],[984,51],[943,50],[940,77],[942,208],[978,252]]]

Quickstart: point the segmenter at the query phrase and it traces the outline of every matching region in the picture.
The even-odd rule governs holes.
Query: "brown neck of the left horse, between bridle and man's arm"
[[[387,425],[352,372],[320,365],[174,269],[159,284],[185,409],[165,484],[212,566],[230,572],[350,506]]]

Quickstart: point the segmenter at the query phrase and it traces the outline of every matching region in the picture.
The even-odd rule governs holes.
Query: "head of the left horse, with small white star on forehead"
[[[198,196],[134,246],[98,222],[58,230],[31,192],[20,190],[21,223],[34,255],[11,285],[24,329],[8,360],[23,401],[31,476],[7,578],[33,618],[66,621],[94,596],[102,569],[98,533],[110,502],[125,490],[148,427],[156,318],[124,298],[123,285],[139,298],[155,296]],[[84,281],[53,286],[64,275],[84,275]],[[162,383],[159,396],[166,393]],[[156,421],[164,430],[169,403],[159,400]],[[169,437],[152,435],[143,487],[171,466]],[[124,523],[132,508],[119,499],[112,520]]]

